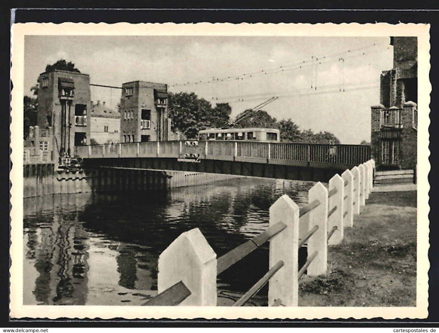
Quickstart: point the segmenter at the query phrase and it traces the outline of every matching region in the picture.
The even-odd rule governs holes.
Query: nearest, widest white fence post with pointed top
[[[201,231],[186,231],[158,257],[158,293],[182,281],[191,295],[180,305],[216,306],[216,264]]]

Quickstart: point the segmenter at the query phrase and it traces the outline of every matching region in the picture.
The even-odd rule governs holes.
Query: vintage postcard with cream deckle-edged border
[[[428,315],[428,25],[11,32],[11,318]]]

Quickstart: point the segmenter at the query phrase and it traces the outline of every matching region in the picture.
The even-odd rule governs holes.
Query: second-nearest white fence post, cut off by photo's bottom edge
[[[270,239],[269,269],[280,260],[284,266],[269,280],[268,305],[298,306],[299,206],[288,195],[270,207],[270,227],[279,222],[287,227]]]

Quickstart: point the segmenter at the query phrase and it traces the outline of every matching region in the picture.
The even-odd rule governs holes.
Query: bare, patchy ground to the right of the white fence
[[[372,192],[328,274],[303,276],[299,306],[416,306],[416,191]]]

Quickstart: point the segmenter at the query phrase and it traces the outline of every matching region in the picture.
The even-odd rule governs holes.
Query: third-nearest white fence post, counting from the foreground
[[[315,251],[318,252],[317,257],[308,266],[307,275],[310,276],[326,274],[327,269],[328,191],[320,181],[308,191],[308,202],[316,199],[320,201],[320,205],[308,212],[309,227],[319,227],[308,240],[308,257]]]

